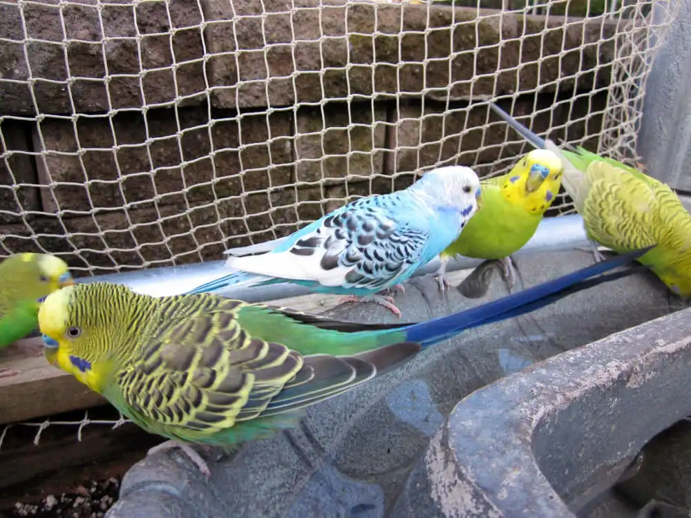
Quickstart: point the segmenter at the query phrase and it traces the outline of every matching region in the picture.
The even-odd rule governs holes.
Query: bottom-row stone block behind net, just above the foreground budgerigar
[[[32,229],[6,225],[0,235],[12,253],[49,251],[64,258],[77,275],[108,274],[220,258],[228,211],[223,202],[115,209],[79,218],[37,218]]]

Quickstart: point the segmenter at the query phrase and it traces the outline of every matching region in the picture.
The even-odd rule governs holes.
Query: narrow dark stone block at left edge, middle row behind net
[[[32,219],[41,210],[36,164],[30,153],[30,126],[5,119],[0,124],[0,223]],[[3,141],[5,145],[3,146]]]

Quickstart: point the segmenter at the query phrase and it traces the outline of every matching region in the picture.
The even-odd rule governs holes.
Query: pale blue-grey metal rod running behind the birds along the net
[[[528,253],[563,251],[591,247],[583,228],[583,218],[578,214],[545,218],[538,231],[515,255]],[[449,261],[447,271],[472,268],[482,260],[457,258]],[[129,286],[133,291],[151,296],[177,295],[228,273],[225,261],[199,262],[194,265],[126,271],[122,274],[108,274],[79,278],[76,282],[115,282]],[[433,260],[419,269],[415,276],[433,274],[439,268],[439,261]],[[310,289],[290,283],[261,287],[228,287],[216,292],[229,298],[262,302],[309,294]]]

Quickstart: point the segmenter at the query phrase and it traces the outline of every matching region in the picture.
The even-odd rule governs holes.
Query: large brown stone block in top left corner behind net
[[[21,11],[19,3],[3,3],[0,17],[0,37],[12,40],[0,48],[3,113],[89,113],[206,99],[196,0],[44,0],[21,4]],[[38,40],[26,44],[28,61],[22,19],[26,37]]]

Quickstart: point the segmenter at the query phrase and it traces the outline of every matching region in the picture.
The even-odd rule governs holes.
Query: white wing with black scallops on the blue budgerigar
[[[413,200],[404,194],[351,202],[303,229],[286,250],[231,257],[227,265],[323,287],[380,291],[395,285],[426,262],[430,239],[429,222],[410,210]]]

